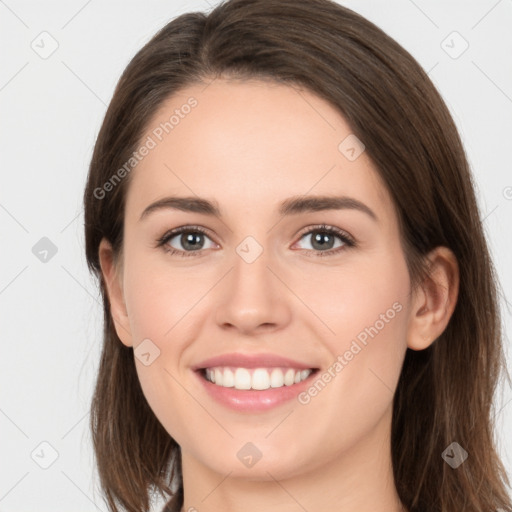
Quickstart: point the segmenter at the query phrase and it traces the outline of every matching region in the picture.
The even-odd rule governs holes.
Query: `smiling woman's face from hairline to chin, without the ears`
[[[393,202],[351,133],[306,90],[218,79],[168,99],[142,138],[112,311],[198,466],[285,478],[388,439],[410,281]],[[219,215],[161,202],[184,197]]]

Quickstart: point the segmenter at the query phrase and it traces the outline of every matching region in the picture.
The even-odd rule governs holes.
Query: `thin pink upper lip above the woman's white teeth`
[[[287,357],[278,356],[276,354],[242,354],[233,352],[230,354],[222,354],[219,356],[205,359],[200,363],[192,366],[193,370],[202,370],[204,368],[214,368],[217,366],[234,366],[236,368],[273,368],[285,367],[297,370],[316,369],[314,366],[295,361]]]

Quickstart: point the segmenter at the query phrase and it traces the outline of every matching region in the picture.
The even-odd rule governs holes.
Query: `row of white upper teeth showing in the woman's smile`
[[[206,378],[225,388],[268,389],[297,384],[311,374],[313,370],[295,370],[293,368],[206,368]]]

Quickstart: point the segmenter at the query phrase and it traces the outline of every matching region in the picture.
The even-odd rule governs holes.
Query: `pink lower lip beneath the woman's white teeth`
[[[209,395],[222,405],[240,412],[260,412],[278,407],[296,398],[299,393],[310,385],[312,377],[314,377],[317,372],[313,371],[307,379],[298,384],[282,386],[280,388],[268,388],[261,391],[256,389],[243,390],[217,386],[213,384],[213,382],[206,380],[201,375],[201,372],[195,371],[194,373]]]

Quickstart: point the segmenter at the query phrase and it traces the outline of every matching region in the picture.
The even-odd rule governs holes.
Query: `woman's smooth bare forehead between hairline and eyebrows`
[[[353,137],[335,108],[296,86],[224,79],[191,85],[148,123],[141,142],[151,149],[131,171],[127,215],[167,195],[215,198],[223,212],[236,214],[295,195],[337,194],[386,216],[392,201],[366,153],[347,158],[347,144],[361,149]]]

